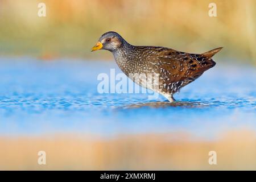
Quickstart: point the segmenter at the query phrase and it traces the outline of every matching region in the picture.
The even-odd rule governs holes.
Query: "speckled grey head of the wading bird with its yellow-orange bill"
[[[92,48],[92,51],[97,51],[99,49],[105,49],[113,52],[115,49],[121,48],[125,40],[117,34],[117,32],[106,32],[101,35],[100,39],[96,45]]]

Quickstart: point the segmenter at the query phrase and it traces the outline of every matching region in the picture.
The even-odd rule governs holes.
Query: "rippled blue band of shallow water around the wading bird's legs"
[[[0,135],[188,131],[213,139],[256,130],[256,69],[217,64],[168,103],[147,94],[99,94],[99,73],[114,61],[0,59]]]

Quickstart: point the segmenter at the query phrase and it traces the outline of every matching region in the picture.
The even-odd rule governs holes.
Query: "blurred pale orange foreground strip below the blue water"
[[[232,131],[210,142],[184,133],[92,138],[1,137],[0,169],[256,169],[252,131]],[[38,164],[41,150],[46,165]],[[217,165],[209,165],[209,151],[217,152]]]

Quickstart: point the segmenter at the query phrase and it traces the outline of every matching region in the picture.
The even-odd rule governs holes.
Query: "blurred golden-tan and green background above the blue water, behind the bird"
[[[38,16],[40,2],[46,17]],[[90,48],[104,32],[117,31],[134,45],[192,53],[224,47],[218,56],[256,64],[256,2],[216,0],[217,17],[209,17],[211,2],[0,0],[0,53],[108,60],[110,53]]]

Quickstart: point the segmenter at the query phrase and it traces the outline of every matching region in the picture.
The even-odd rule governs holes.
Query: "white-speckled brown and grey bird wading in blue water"
[[[109,31],[101,35],[91,51],[105,49],[112,52],[118,67],[129,78],[134,73],[143,75],[146,79],[150,74],[158,76],[153,79],[154,84],[151,85],[140,79],[131,79],[174,102],[175,93],[216,65],[212,57],[222,48],[200,54],[159,46],[133,46],[117,32]]]

